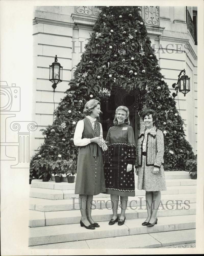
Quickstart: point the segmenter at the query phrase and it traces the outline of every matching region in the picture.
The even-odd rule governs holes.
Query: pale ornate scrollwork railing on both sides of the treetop
[[[101,12],[101,6],[75,6],[75,14],[83,14],[97,17]],[[159,6],[138,6],[140,7],[140,15],[146,25],[159,26]]]

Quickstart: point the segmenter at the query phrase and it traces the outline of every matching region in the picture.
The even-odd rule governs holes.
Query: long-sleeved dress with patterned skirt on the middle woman
[[[104,194],[135,196],[136,144],[132,127],[125,123],[110,127],[106,141],[108,150],[104,154]],[[127,164],[132,164],[130,172],[127,172]]]

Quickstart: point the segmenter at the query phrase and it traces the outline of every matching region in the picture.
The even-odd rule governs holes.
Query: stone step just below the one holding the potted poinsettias
[[[196,185],[192,186],[170,186],[167,187],[167,190],[161,191],[162,195],[171,195],[171,194],[192,194],[196,193]],[[137,196],[144,196],[145,190],[135,189],[135,194]],[[74,194],[74,190],[57,190],[57,189],[48,189],[48,188],[30,188],[30,197],[44,198],[44,199],[72,199],[73,197],[79,198],[78,194]],[[100,197],[110,197],[107,194],[98,194],[93,198]]]

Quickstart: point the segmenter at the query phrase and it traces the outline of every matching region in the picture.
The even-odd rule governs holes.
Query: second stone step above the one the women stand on
[[[173,201],[172,201],[173,200]],[[162,195],[162,204],[177,204],[179,203],[195,203],[196,194],[172,194],[172,195]],[[146,205],[145,196],[135,196],[129,197],[127,206],[135,207],[140,205]],[[108,197],[95,198],[93,199],[92,208],[111,208],[111,201]],[[78,210],[79,200],[73,199],[61,199],[61,200],[50,200],[42,198],[30,197],[29,210],[36,211],[65,211],[65,210]]]

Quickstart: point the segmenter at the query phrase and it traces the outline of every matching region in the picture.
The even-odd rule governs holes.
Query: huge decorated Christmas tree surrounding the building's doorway
[[[101,101],[104,112],[101,120],[107,120],[108,106],[114,105],[115,110],[119,104],[112,95],[113,87],[114,90],[117,87],[121,89],[119,97],[126,94],[126,102],[130,99],[135,103],[130,109],[132,116],[146,108],[157,112],[156,125],[164,133],[165,168],[185,169],[185,160],[193,157],[192,147],[185,139],[184,122],[160,73],[139,12],[137,6],[102,7],[74,78],[69,82],[70,88],[54,112],[55,120],[42,130],[45,141],[31,159],[31,167],[39,159],[38,155],[41,162],[42,158],[56,160],[59,154],[63,159],[68,159],[70,154],[77,158],[73,134],[76,123],[84,118],[85,103],[90,99]],[[134,100],[129,92],[135,92]],[[108,130],[105,126],[104,132]]]

